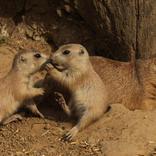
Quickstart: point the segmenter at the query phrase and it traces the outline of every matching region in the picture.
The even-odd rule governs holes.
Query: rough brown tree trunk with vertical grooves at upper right
[[[75,0],[75,7],[96,32],[98,47],[113,58],[156,54],[156,0]]]

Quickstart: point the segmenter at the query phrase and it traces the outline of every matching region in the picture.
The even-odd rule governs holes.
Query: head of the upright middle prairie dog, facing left
[[[52,64],[60,71],[85,70],[89,65],[89,54],[80,44],[61,46],[51,57]]]

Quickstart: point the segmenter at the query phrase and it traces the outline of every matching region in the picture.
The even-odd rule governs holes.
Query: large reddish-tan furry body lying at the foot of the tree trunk
[[[102,57],[91,57],[91,62],[106,85],[109,102],[131,110],[156,107],[156,58],[137,60],[135,75],[128,62]]]

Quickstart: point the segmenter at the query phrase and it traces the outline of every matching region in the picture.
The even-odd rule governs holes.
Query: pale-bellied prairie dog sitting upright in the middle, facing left
[[[63,108],[68,115],[78,118],[78,123],[63,137],[69,141],[106,112],[107,91],[82,45],[61,46],[51,57],[51,63],[46,67],[50,77],[70,93],[69,103]]]

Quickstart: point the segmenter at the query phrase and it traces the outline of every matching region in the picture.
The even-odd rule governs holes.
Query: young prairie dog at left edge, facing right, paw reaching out
[[[31,76],[39,71],[46,61],[46,55],[33,50],[26,50],[15,55],[11,70],[0,79],[0,123],[6,124],[13,120],[11,115],[24,104],[42,116],[32,98],[42,95],[44,90],[33,87]]]

